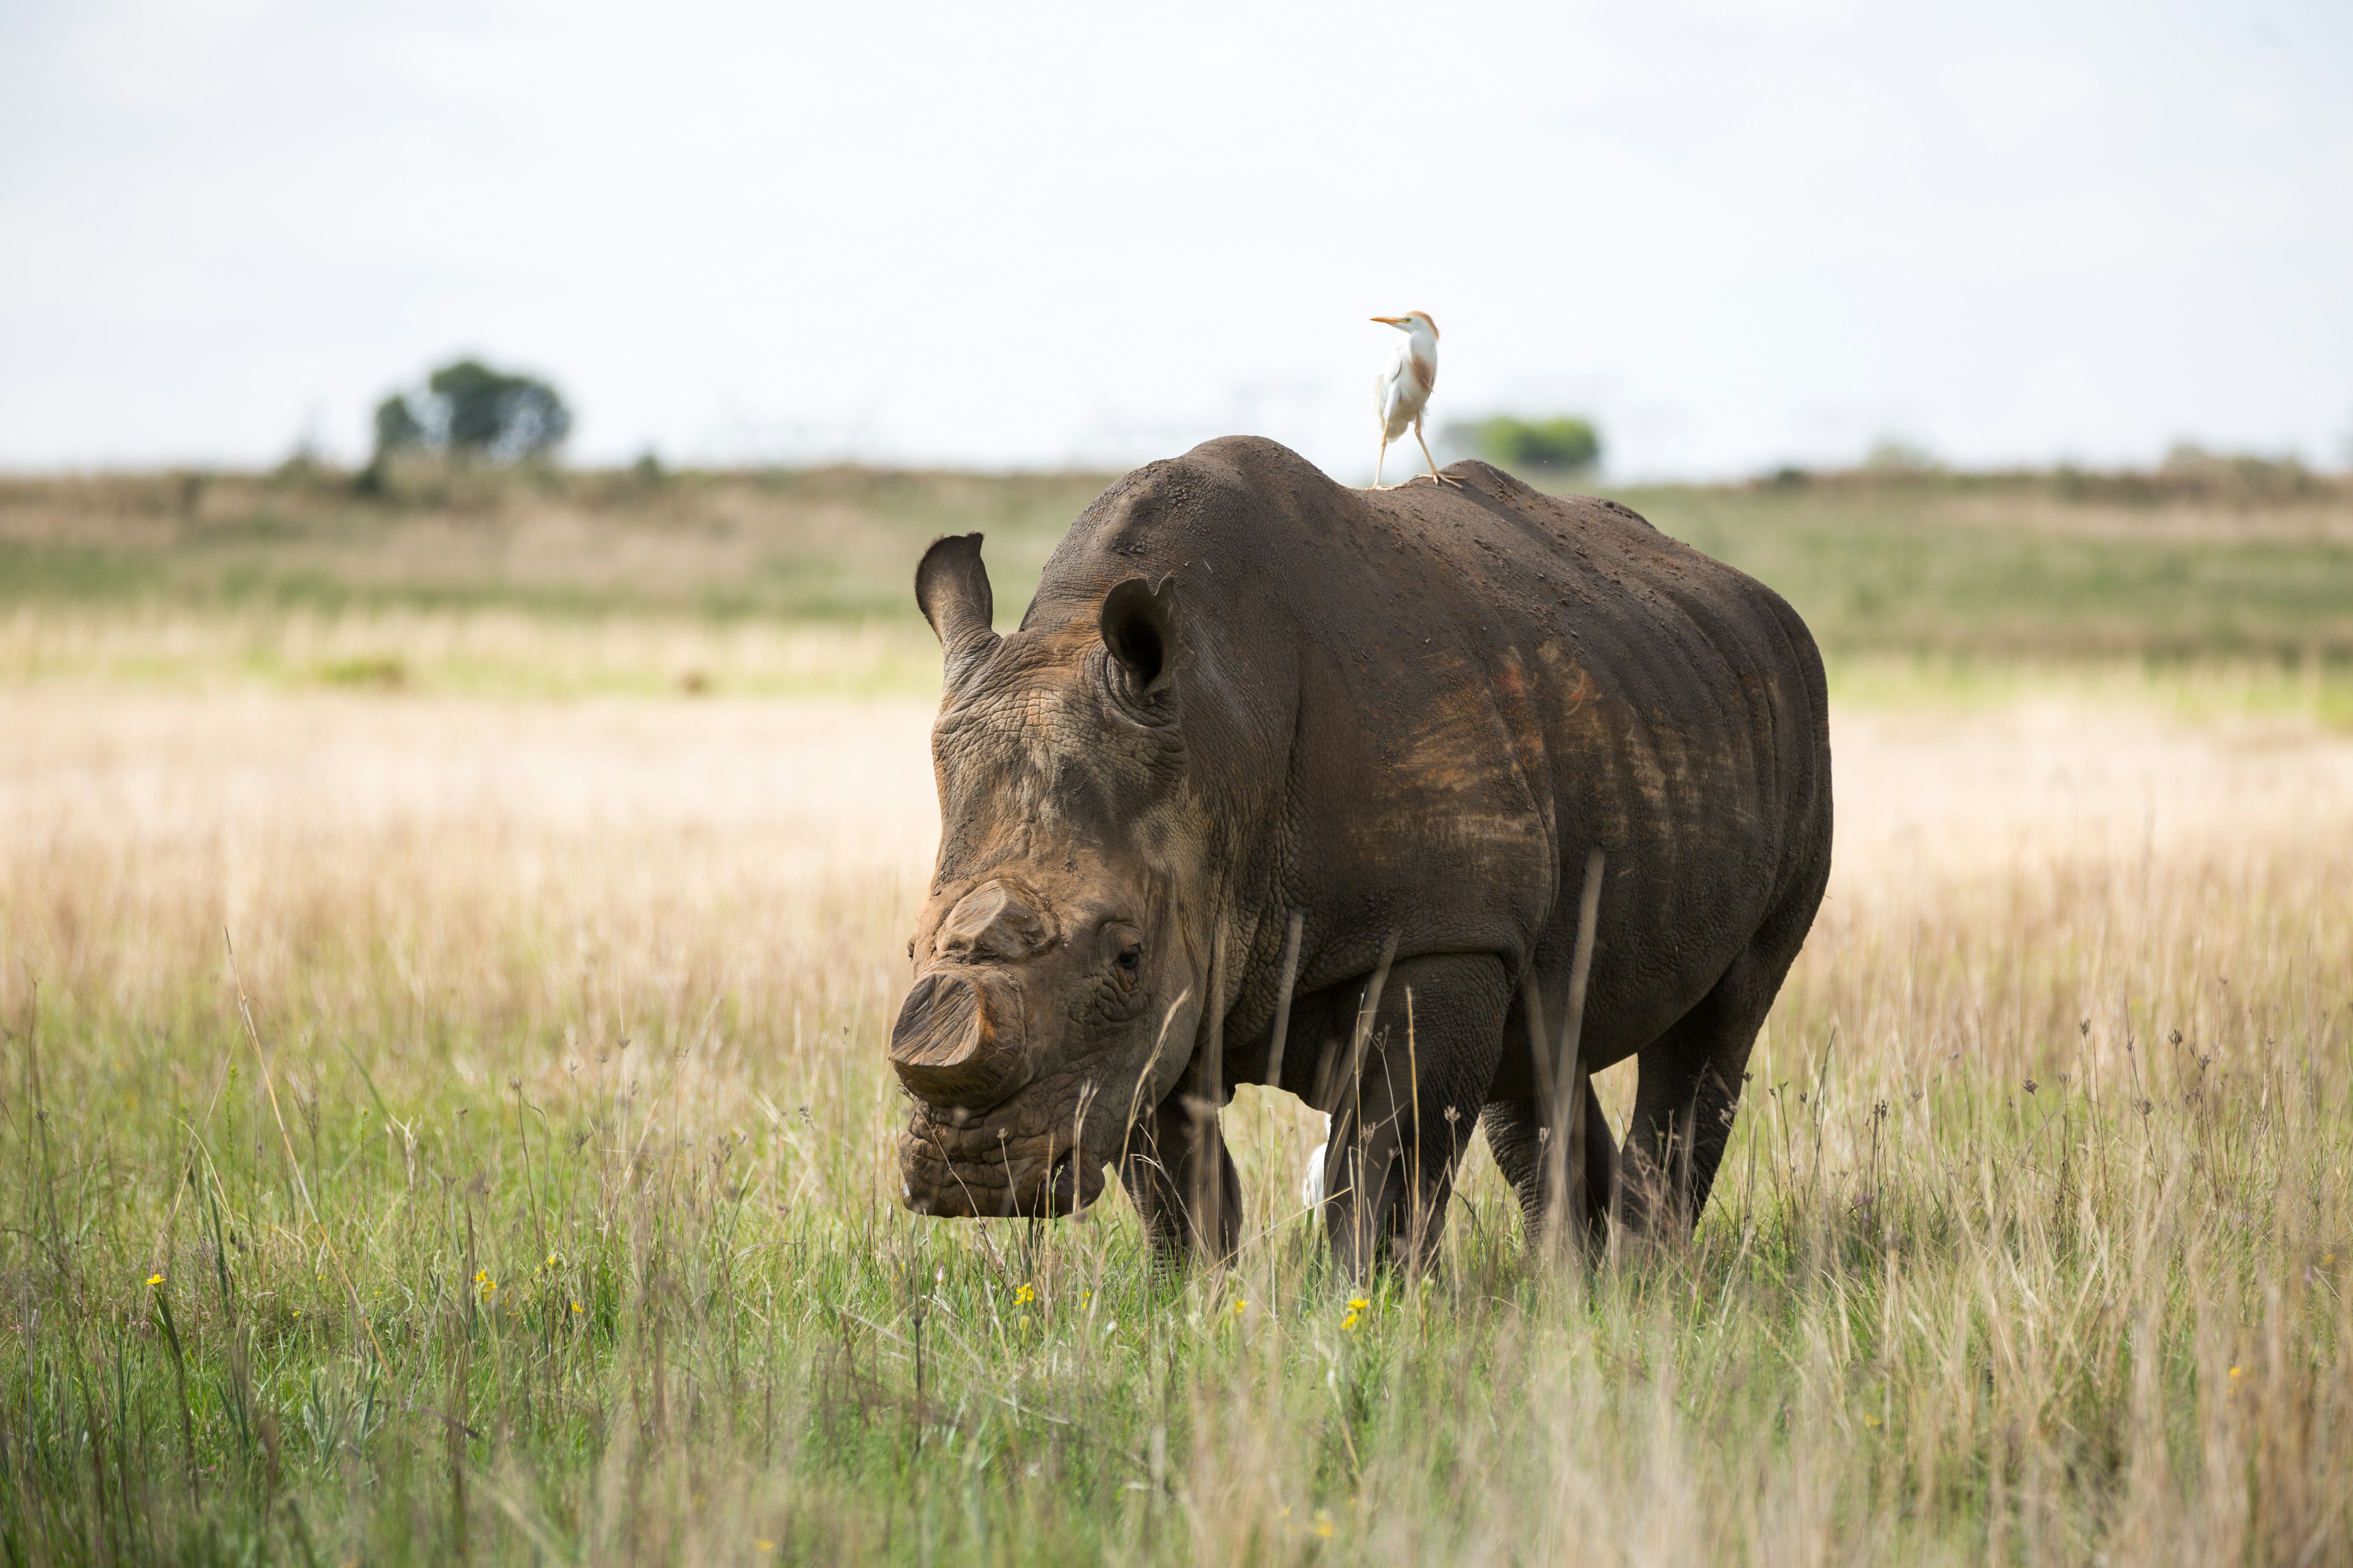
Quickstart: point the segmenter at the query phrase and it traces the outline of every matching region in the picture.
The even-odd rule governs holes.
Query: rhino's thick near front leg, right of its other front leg
[[[1367,987],[1358,987],[1358,1009]],[[1497,957],[1402,959],[1381,985],[1353,1079],[1346,1056],[1355,1030],[1334,1030],[1325,1046],[1341,1056],[1325,1100],[1332,1112],[1325,1229],[1346,1274],[1428,1258],[1445,1227],[1454,1166],[1504,1053],[1508,1006],[1511,980]]]

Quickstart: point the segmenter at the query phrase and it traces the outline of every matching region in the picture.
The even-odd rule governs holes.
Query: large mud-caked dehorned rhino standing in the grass
[[[979,534],[925,555],[946,693],[892,1034],[911,1208],[1068,1213],[1118,1171],[1155,1244],[1231,1251],[1214,1107],[1271,1077],[1297,912],[1278,1077],[1337,1112],[1344,1267],[1435,1237],[1480,1119],[1532,1220],[1697,1220],[1828,877],[1821,658],[1772,590],[1617,503],[1447,473],[1353,491],[1207,442],[1104,491],[1005,637]],[[1581,1168],[1553,1192],[1532,1041],[1593,846],[1579,1056],[1638,1056],[1640,1086],[1621,1159],[1569,1079]]]

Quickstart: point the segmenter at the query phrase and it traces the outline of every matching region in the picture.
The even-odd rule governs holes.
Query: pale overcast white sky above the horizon
[[[2353,5],[0,0],[0,465],[358,456],[471,350],[574,456],[1621,477],[2339,463]]]

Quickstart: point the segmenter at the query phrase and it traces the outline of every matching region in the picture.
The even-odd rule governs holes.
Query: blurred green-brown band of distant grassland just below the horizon
[[[915,623],[922,545],[981,529],[1009,618],[1108,480],[466,468],[424,454],[360,475],[296,461],[9,477],[0,607]],[[2353,484],[2292,465],[1781,470],[1595,489],[1772,583],[1833,654],[2353,658]]]

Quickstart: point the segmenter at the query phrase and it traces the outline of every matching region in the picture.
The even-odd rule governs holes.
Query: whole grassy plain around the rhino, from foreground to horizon
[[[562,498],[624,475],[254,543],[273,484],[325,487],[0,501],[7,1561],[2353,1561],[2341,498],[1988,510],[2235,585],[2184,646],[2111,562],[2005,658],[1937,630],[1960,484],[1635,498],[1824,625],[1831,900],[1689,1246],[1532,1260],[1473,1154],[1358,1298],[1257,1091],[1233,1269],[1155,1276],[1118,1199],[892,1201],[936,813],[889,550],[1000,520],[1016,604],[1089,482],[904,480],[981,501],[708,576]],[[1904,604],[1840,585],[1906,550]]]

